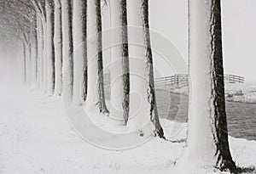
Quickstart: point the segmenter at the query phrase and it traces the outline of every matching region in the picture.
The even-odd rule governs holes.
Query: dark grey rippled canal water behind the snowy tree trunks
[[[167,90],[156,90],[158,110],[161,118],[179,122],[188,119],[188,97]],[[227,102],[229,134],[235,138],[256,140],[256,104]]]

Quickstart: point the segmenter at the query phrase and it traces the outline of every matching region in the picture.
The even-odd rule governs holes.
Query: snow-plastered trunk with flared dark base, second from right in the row
[[[131,129],[138,129],[141,135],[156,135],[164,138],[160,126],[154,92],[153,55],[148,25],[148,0],[131,1],[131,32],[129,48],[131,69],[131,113],[128,121]]]

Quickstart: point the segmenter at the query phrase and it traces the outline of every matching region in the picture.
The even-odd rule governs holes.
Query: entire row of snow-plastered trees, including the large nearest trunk
[[[15,11],[24,60],[24,81],[49,95],[57,94],[88,110],[117,117],[123,125],[140,127],[150,118],[155,135],[164,138],[154,92],[153,53],[148,23],[148,0],[131,0],[131,25],[136,25],[138,59],[129,55],[126,0],[1,1]],[[19,3],[18,7],[15,4]],[[111,104],[104,94],[102,3],[111,10],[113,81]],[[236,171],[231,158],[224,103],[224,72],[220,0],[189,0],[189,131],[183,159]],[[3,17],[1,18],[3,20]],[[16,32],[17,33],[17,32]],[[137,76],[131,76],[130,72]],[[143,80],[141,78],[143,76]],[[137,106],[131,90],[139,93]]]

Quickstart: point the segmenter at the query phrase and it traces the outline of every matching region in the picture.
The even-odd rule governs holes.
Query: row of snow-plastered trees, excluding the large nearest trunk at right
[[[152,131],[163,138],[154,94],[148,1],[132,3],[134,9],[141,9],[131,18],[131,23],[139,28],[137,42],[143,46],[134,50],[140,57],[137,61],[129,60],[126,1],[108,2],[114,28],[111,78],[117,79],[111,86],[110,109],[104,90],[101,0],[32,0],[31,3],[31,27],[23,32],[21,40],[26,83],[46,94],[62,95],[73,104],[85,103],[88,110],[110,113],[123,125],[128,123],[130,110],[135,113],[137,109],[136,99],[130,98],[132,89],[143,96],[143,108],[138,113],[142,116],[133,119],[133,123],[130,121],[131,125],[138,122],[142,125],[149,115]],[[141,70],[135,77],[130,76],[130,64],[132,69]]]

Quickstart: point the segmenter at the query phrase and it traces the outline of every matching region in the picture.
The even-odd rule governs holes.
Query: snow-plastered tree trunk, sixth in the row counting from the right
[[[61,0],[63,36],[63,97],[67,102],[73,99],[73,14],[72,2]]]

